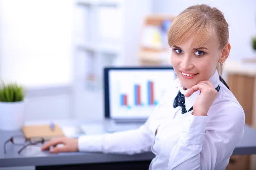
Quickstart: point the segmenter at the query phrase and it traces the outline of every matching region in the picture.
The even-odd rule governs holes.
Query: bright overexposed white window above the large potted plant
[[[0,77],[28,86],[70,82],[73,1],[0,3]]]

